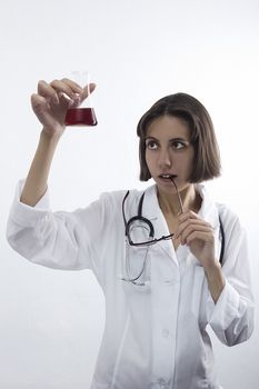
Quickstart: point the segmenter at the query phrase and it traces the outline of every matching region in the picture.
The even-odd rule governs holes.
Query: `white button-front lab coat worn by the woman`
[[[209,325],[219,340],[233,346],[253,329],[247,240],[226,206],[202,197],[199,215],[211,223],[216,257],[220,252],[219,213],[226,235],[222,271],[226,286],[211,299],[203,268],[188,247],[175,251],[170,240],[150,247],[150,282],[135,286],[124,273],[126,239],[121,203],[126,191],[104,193],[86,209],[52,212],[48,193],[32,208],[21,202],[22,182],[8,221],[11,247],[33,263],[56,269],[91,269],[106,296],[106,327],[91,389],[219,389]],[[126,201],[126,218],[137,215],[142,192]],[[147,189],[142,213],[156,237],[168,235],[157,187]],[[130,248],[136,260],[146,248]],[[131,257],[132,258],[132,257]]]

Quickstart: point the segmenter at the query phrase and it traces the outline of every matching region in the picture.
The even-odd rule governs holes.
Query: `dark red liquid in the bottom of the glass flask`
[[[93,108],[71,108],[68,110],[66,126],[97,126],[97,117]]]

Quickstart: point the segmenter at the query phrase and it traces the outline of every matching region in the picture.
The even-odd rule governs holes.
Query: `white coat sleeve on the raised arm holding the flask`
[[[20,181],[7,225],[10,246],[33,263],[53,269],[92,269],[99,275],[98,249],[94,239],[104,235],[112,222],[111,207],[106,196],[84,209],[52,212],[48,191],[36,205],[20,202]]]

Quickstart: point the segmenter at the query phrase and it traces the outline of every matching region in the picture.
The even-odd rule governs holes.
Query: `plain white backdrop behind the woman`
[[[0,388],[89,388],[103,329],[103,297],[90,272],[33,266],[6,241],[14,187],[39,138],[30,109],[39,79],[89,69],[98,86],[98,127],[70,128],[59,144],[49,181],[54,210],[142,188],[140,116],[177,91],[205,103],[223,166],[208,186],[248,230],[258,305],[258,0],[1,1]],[[245,345],[213,343],[223,387],[258,388],[258,325]]]

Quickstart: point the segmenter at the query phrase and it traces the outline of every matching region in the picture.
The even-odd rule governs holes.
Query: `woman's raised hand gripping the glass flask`
[[[90,93],[96,84],[90,83]],[[49,136],[61,136],[64,130],[64,119],[69,108],[76,108],[88,97],[88,88],[81,88],[74,81],[63,78],[50,83],[41,80],[38,93],[31,96],[31,106],[37,118]]]

